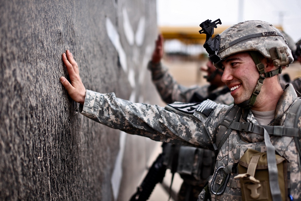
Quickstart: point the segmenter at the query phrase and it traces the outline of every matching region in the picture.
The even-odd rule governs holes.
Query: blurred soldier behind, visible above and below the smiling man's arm
[[[204,86],[185,87],[178,84],[169,74],[168,69],[166,66],[163,66],[161,62],[162,57],[163,37],[160,34],[155,42],[155,49],[147,68],[151,71],[152,80],[162,100],[167,104],[173,102],[203,102],[207,99],[226,105],[231,105],[233,103],[233,97],[230,94],[229,88],[222,82],[222,70],[216,69],[212,61],[209,60],[206,63],[206,69],[201,69],[202,71],[207,72],[206,80],[209,82],[208,84]],[[179,152],[165,153],[172,155],[177,154],[179,155],[179,158],[182,157],[182,154],[185,154],[186,158],[187,155],[195,155],[194,160],[197,161],[194,163],[185,161],[186,165],[191,165],[191,167],[189,167],[191,169],[190,174],[188,173],[189,171],[181,171],[181,168],[177,168],[177,172],[183,179],[183,183],[178,192],[177,201],[197,200],[198,195],[208,180],[209,175],[213,174],[213,167],[215,166],[214,152],[208,149],[195,149],[181,146],[181,148],[178,147],[176,149],[179,150]],[[172,156],[167,157],[171,158]],[[177,164],[178,167],[183,166],[181,162],[184,161],[179,160]],[[198,170],[196,170],[197,168]],[[197,173],[197,175],[195,173]]]

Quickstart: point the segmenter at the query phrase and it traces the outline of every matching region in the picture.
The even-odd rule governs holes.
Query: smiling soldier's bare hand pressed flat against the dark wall
[[[75,102],[83,105],[85,102],[86,89],[80,79],[77,63],[69,50],[66,50],[66,53],[63,53],[62,59],[67,68],[71,83],[65,77],[60,78],[61,83],[69,93],[70,97]]]

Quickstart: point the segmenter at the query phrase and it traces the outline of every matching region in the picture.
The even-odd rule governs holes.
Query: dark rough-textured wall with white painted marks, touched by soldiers
[[[0,2],[0,200],[134,193],[154,142],[79,114],[61,55],[70,49],[86,89],[155,104],[146,64],[156,35],[155,1]]]

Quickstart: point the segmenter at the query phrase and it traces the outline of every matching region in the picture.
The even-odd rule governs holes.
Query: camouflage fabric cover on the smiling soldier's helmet
[[[276,46],[287,47],[288,58],[290,63],[292,63],[292,52],[281,32],[272,24],[251,20],[234,24],[220,34],[220,45],[217,55],[224,59],[238,52],[258,51],[263,56],[271,58],[269,49]],[[217,64],[215,66],[219,67]]]

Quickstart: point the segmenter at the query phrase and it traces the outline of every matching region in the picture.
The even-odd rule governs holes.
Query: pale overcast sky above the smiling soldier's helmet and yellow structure
[[[159,26],[199,26],[218,18],[225,26],[262,20],[282,25],[295,42],[301,39],[300,0],[157,0],[157,17]]]

